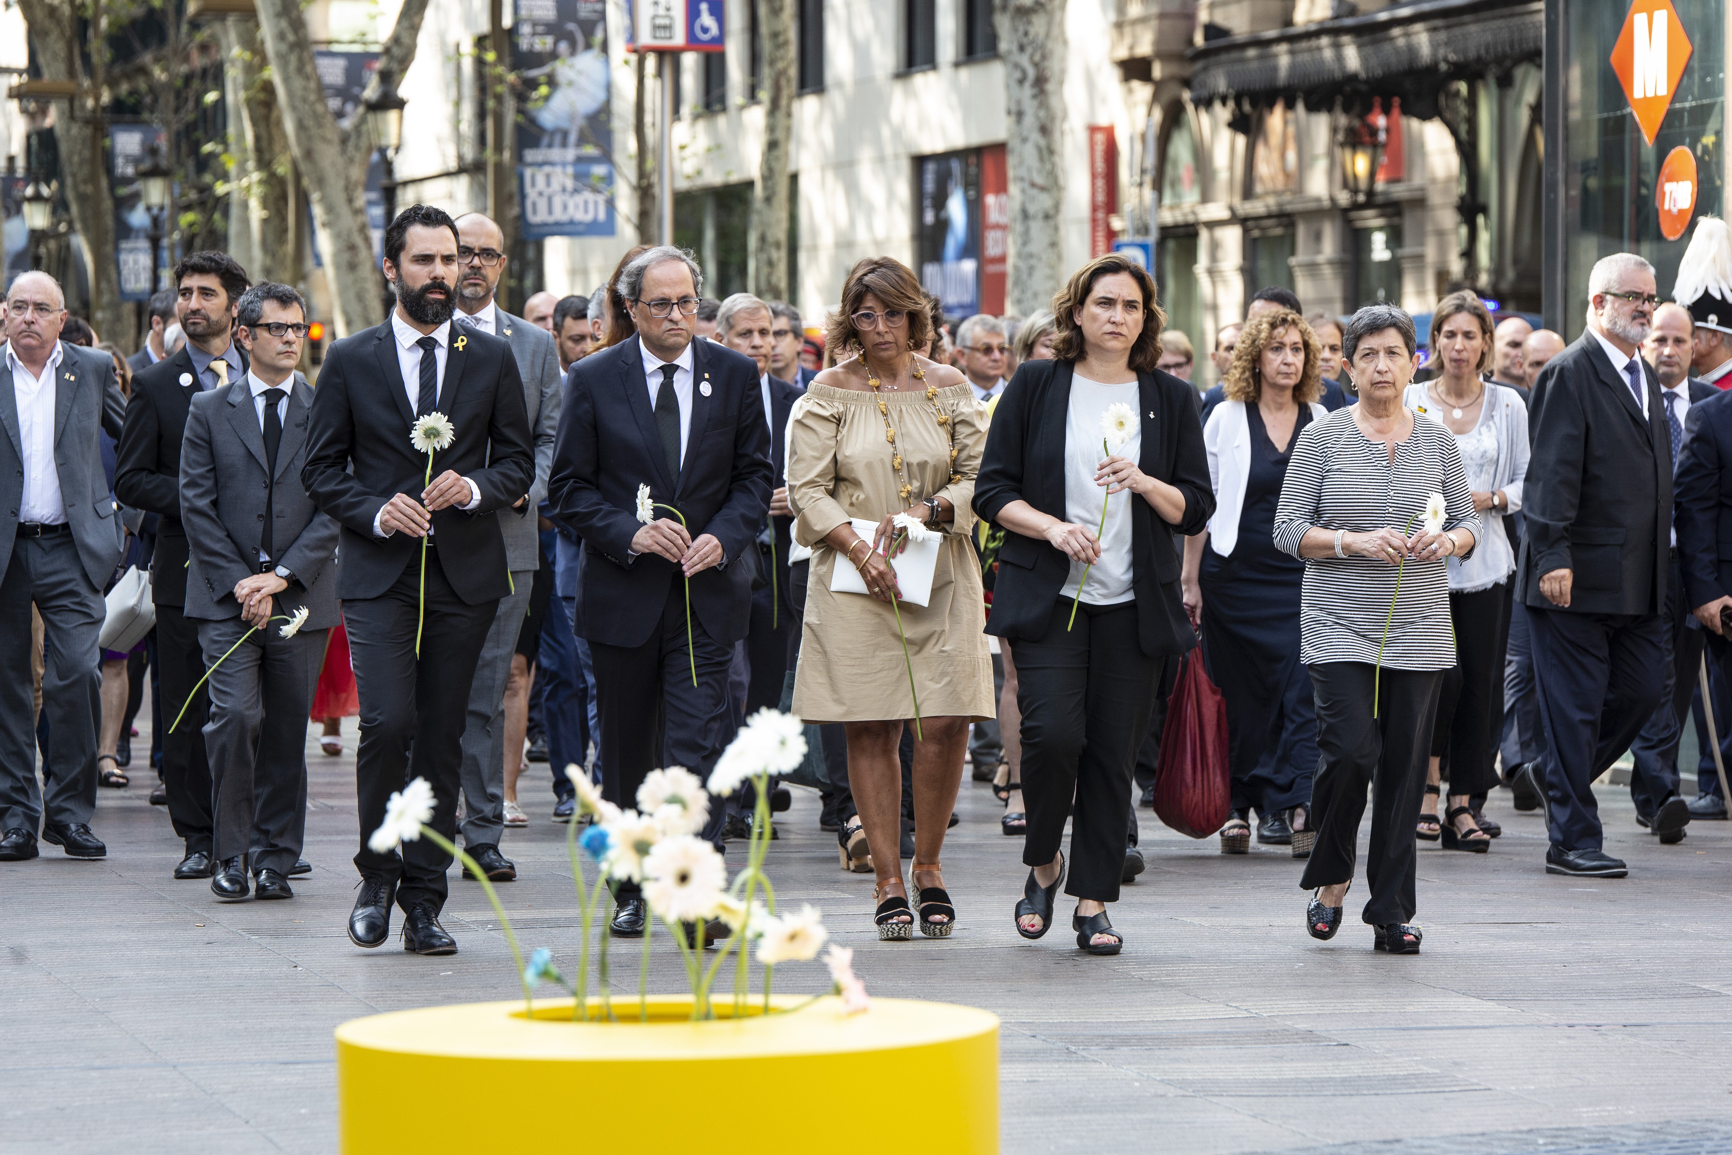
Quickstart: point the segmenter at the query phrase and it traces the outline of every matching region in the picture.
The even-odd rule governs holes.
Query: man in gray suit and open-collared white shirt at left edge
[[[100,859],[97,805],[102,585],[120,561],[118,506],[102,471],[102,431],[120,436],[125,402],[114,362],[61,341],[66,298],[43,272],[7,291],[0,376],[0,663],[29,670],[29,606],[42,613],[48,661],[43,786],[36,784],[36,707],[28,674],[0,679],[0,862],[36,857],[43,842]],[[47,812],[47,814],[45,814]]]

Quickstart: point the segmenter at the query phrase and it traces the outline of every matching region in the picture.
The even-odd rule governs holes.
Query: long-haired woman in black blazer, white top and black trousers
[[[1053,315],[1057,360],[1024,364],[999,398],[973,507],[1006,530],[987,632],[1015,641],[1020,681],[1032,869],[1017,933],[1051,926],[1070,816],[1077,945],[1117,954],[1105,904],[1119,897],[1136,748],[1166,661],[1197,644],[1173,535],[1200,532],[1214,495],[1195,391],[1155,371],[1154,279],[1100,256]]]

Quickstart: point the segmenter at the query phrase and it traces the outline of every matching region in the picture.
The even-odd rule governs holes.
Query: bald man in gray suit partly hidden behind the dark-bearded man
[[[462,842],[492,881],[511,881],[516,866],[499,852],[506,807],[506,708],[513,710],[523,732],[528,713],[528,672],[513,677],[511,658],[518,649],[530,608],[530,590],[540,558],[537,507],[547,497],[547,473],[553,468],[553,438],[559,428],[559,360],[546,329],[513,317],[494,301],[499,277],[506,272],[504,234],[481,213],[457,218],[457,312],[456,326],[480,329],[511,345],[523,379],[523,409],[528,412],[535,440],[535,481],[528,499],[501,511],[499,530],[506,539],[506,563],[511,589],[499,599],[494,629],[481,648],[469,689],[469,717],[462,729]],[[509,701],[507,701],[509,700]],[[468,868],[464,868],[468,878]]]

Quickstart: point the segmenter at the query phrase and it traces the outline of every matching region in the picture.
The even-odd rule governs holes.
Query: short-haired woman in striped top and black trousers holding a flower
[[[1315,939],[1332,939],[1353,881],[1354,840],[1372,798],[1365,921],[1375,947],[1419,954],[1413,873],[1425,760],[1443,672],[1455,665],[1446,561],[1479,544],[1479,516],[1448,429],[1401,405],[1413,377],[1413,319],[1393,305],[1356,312],[1342,355],[1360,403],[1299,435],[1275,545],[1306,559],[1299,656],[1316,689],[1316,845],[1301,887]],[[1443,525],[1425,507],[1443,495]]]

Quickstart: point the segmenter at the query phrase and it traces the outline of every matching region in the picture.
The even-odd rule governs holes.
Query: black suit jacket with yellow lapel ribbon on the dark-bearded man
[[[438,556],[457,596],[476,606],[511,592],[499,511],[525,497],[535,481],[535,448],[511,346],[454,327],[438,405],[457,440],[435,454],[433,476],[456,469],[475,481],[481,500],[473,511],[435,511],[438,549],[428,552]],[[390,320],[331,346],[313,390],[301,481],[313,502],[343,525],[338,597],[379,597],[421,556],[419,539],[409,533],[372,533],[372,519],[391,494],[421,500],[426,488],[426,454],[409,442],[414,419]]]

